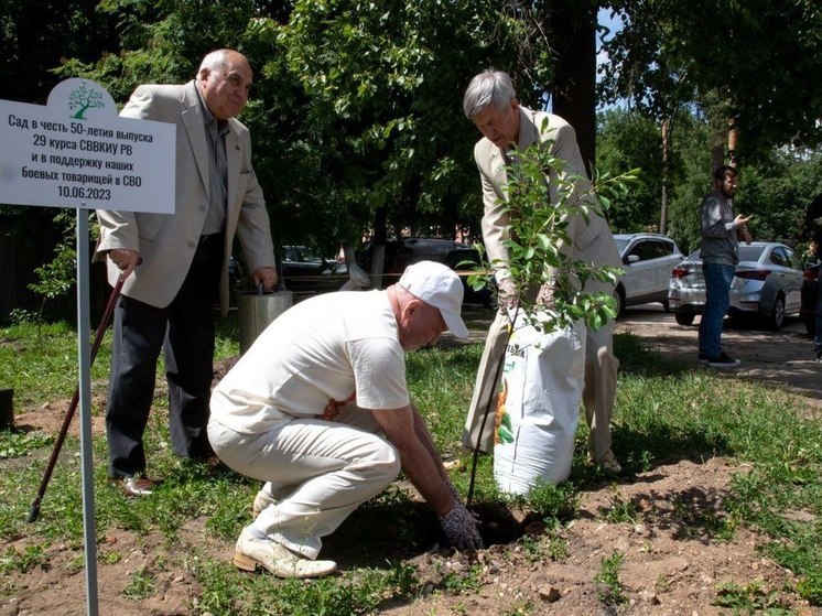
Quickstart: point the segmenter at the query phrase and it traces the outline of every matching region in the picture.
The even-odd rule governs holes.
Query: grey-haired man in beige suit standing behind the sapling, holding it
[[[495,259],[505,262],[508,260],[505,240],[509,224],[505,203],[508,182],[505,167],[511,160],[509,151],[513,147],[524,150],[533,143],[544,143],[556,158],[564,161],[562,173],[565,176],[580,177],[576,183],[578,193],[590,191],[591,184],[571,125],[559,116],[531,111],[520,106],[511,79],[506,73],[486,71],[475,76],[465,91],[463,110],[484,136],[474,148],[474,159],[483,184],[483,239],[486,251],[491,262]],[[548,181],[553,203],[556,199],[556,177],[553,172]],[[576,216],[570,220],[567,230],[573,246],[562,249],[572,259],[603,266],[621,266],[614,237],[599,213],[592,214],[587,223],[582,216]],[[512,291],[509,273],[505,268],[497,269],[495,279],[499,287],[500,311],[488,332],[463,432],[463,445],[472,450],[477,447],[477,442],[483,451],[490,451],[494,446],[495,404],[491,406],[491,417],[485,421],[482,434],[480,426],[489,398],[499,387],[497,367],[505,354],[508,328],[508,316],[502,309],[510,301]],[[614,288],[606,283],[588,282],[585,291],[613,293]],[[583,403],[591,428],[588,451],[592,460],[607,472],[619,473],[621,468],[610,449],[610,415],[619,367],[619,360],[613,352],[613,321],[597,331],[590,327],[587,329]]]

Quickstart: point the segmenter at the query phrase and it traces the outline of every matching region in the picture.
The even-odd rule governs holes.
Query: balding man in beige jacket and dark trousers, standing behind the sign
[[[115,313],[106,429],[109,476],[128,496],[151,494],[142,436],[163,348],[173,450],[212,455],[206,434],[214,357],[214,304],[228,310],[235,234],[255,284],[277,284],[271,228],[251,166],[248,129],[235,119],[253,74],[240,53],[219,50],[185,85],[144,85],[120,116],[176,125],[174,214],[98,210],[97,259],[113,285]],[[138,267],[139,264],[139,267]]]

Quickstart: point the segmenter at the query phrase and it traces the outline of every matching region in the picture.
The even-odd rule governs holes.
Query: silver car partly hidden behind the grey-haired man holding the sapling
[[[617,314],[625,306],[660,302],[668,311],[668,282],[684,255],[661,234],[615,234],[625,273],[614,291]]]

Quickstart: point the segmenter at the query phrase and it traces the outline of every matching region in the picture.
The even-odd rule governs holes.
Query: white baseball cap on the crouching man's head
[[[439,309],[448,331],[457,338],[468,337],[468,328],[459,316],[463,283],[454,270],[435,261],[420,261],[405,268],[399,284],[418,300]]]

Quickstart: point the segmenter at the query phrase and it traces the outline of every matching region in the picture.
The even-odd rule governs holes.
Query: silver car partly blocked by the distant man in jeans
[[[754,315],[777,331],[787,316],[799,315],[803,268],[785,244],[754,241],[739,245],[739,264],[731,283],[731,316]],[[705,279],[696,250],[671,274],[668,302],[677,323],[691,325],[705,305]]]

